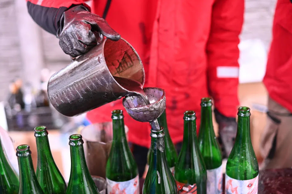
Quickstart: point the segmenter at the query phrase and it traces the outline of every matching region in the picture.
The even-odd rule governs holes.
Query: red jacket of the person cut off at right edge
[[[264,84],[269,96],[292,112],[292,3],[278,0],[273,39],[268,55]]]

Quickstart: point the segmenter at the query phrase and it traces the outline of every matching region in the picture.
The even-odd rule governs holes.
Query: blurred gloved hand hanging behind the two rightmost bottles
[[[234,145],[237,122],[233,117],[222,115],[217,109],[214,110],[214,114],[219,127],[218,142],[222,149],[222,156],[223,158],[228,158]]]

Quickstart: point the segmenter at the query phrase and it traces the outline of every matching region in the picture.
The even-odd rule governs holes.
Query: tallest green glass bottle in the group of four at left
[[[46,194],[65,194],[66,183],[53,159],[47,127],[39,126],[34,131],[37,149],[36,178]]]

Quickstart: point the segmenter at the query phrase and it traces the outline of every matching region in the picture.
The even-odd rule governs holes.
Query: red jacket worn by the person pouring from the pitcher
[[[104,15],[107,2],[94,0],[91,11]],[[34,5],[28,4],[30,14],[35,15]],[[85,5],[81,0],[41,2],[42,6],[57,9],[52,28],[59,27],[56,21],[63,11],[60,7],[71,4]],[[106,20],[141,57],[146,75],[144,87],[165,89],[168,127],[174,143],[182,141],[184,111],[196,111],[199,126],[202,97],[212,96],[221,114],[235,117],[238,35],[243,12],[244,0],[111,1]],[[35,20],[41,24],[38,20],[43,19]],[[92,110],[87,116],[92,122],[109,121],[113,109],[123,109],[120,100]],[[129,141],[149,146],[150,125],[124,115]]]

